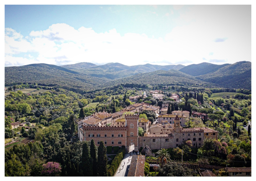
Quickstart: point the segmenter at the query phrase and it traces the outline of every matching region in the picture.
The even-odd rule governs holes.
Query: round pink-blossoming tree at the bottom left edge
[[[60,176],[61,166],[57,162],[47,162],[43,165],[43,176]]]

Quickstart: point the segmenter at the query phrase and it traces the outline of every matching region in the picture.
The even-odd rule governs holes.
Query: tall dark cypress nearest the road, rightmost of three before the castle
[[[98,147],[98,162],[97,162],[97,170],[99,177],[108,176],[108,158],[107,158],[107,148],[105,147],[103,141],[100,141],[100,146]]]

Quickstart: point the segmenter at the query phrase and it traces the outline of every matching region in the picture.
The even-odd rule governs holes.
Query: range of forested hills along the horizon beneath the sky
[[[90,67],[91,66],[91,67]],[[205,66],[205,67],[204,67]],[[90,67],[90,68],[89,68]],[[215,65],[134,65],[88,62],[56,66],[45,63],[5,67],[5,85],[39,83],[69,90],[93,90],[117,83],[189,83],[251,90],[251,62]],[[193,75],[190,75],[193,74]],[[199,75],[199,76],[195,76]],[[179,82],[180,81],[180,82]]]

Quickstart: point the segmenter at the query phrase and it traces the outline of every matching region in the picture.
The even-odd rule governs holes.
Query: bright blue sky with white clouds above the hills
[[[251,62],[251,5],[5,5],[4,65]]]

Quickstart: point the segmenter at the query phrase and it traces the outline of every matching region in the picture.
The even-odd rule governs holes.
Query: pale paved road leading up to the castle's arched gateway
[[[124,159],[122,160],[119,168],[117,169],[115,177],[127,177],[128,171],[130,168],[130,164],[131,164],[132,155],[136,155],[136,153],[132,153],[133,149],[134,149],[134,145],[132,145],[130,148],[131,156],[130,156],[130,154],[124,155]]]

